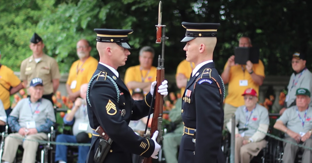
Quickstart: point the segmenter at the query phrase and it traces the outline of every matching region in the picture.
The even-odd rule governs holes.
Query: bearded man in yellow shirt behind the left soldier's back
[[[77,42],[77,55],[79,57],[70,67],[66,90],[71,101],[80,96],[80,87],[88,83],[94,73],[98,60],[90,56],[91,46],[86,39]]]

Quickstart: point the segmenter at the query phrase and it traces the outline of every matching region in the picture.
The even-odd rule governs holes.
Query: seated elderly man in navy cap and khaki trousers
[[[2,157],[5,163],[14,161],[18,146],[22,144],[24,148],[22,162],[35,162],[39,143],[32,140],[47,140],[47,132],[50,132],[51,126],[55,123],[52,102],[42,98],[42,79],[33,78],[28,91],[30,97],[21,99],[8,117],[11,130],[17,133],[11,133],[5,139]]]

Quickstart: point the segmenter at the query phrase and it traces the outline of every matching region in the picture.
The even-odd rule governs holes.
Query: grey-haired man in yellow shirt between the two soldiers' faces
[[[151,82],[156,80],[157,68],[152,66],[154,49],[144,46],[139,52],[139,65],[131,66],[126,70],[124,83],[132,94],[132,89],[140,88],[146,95],[150,90]]]

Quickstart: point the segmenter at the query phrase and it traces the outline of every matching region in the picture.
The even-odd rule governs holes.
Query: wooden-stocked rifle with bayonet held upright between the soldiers
[[[150,110],[154,106],[153,107],[154,112],[153,112],[153,117],[151,120],[149,137],[152,137],[152,134],[156,130],[158,130],[159,134],[157,137],[157,142],[160,144],[160,141],[163,140],[162,123],[163,123],[164,95],[161,95],[158,92],[158,87],[162,84],[162,82],[165,79],[165,67],[164,67],[165,40],[168,39],[168,37],[166,36],[166,30],[165,30],[166,25],[162,25],[162,1],[160,1],[159,3],[158,24],[155,26],[157,27],[156,43],[163,43],[163,44],[162,44],[162,54],[159,55],[158,57],[157,76],[156,76],[157,84],[154,88],[154,92],[153,92],[154,97],[150,105]],[[146,129],[148,125],[148,120],[149,120],[149,115],[148,115],[146,128],[145,128],[145,134],[144,134],[145,137],[146,137]],[[159,157],[159,159],[161,159],[161,157]],[[144,158],[144,163],[152,163],[152,158],[151,157]]]

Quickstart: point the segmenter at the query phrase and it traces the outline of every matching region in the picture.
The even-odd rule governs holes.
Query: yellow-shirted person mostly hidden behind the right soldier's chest
[[[179,89],[181,89],[181,95],[183,95],[186,84],[190,79],[191,73],[195,68],[195,64],[188,62],[186,59],[182,60],[177,68],[176,83]]]

